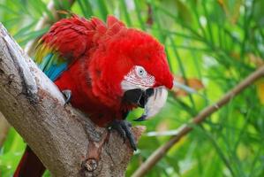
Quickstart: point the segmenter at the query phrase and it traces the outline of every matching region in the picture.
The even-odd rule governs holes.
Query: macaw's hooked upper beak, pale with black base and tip
[[[168,90],[165,87],[147,89],[145,94],[140,97],[140,102],[145,105],[145,110],[140,118],[134,119],[134,121],[143,121],[155,116],[155,114],[160,112],[163,105],[166,103],[167,96]]]

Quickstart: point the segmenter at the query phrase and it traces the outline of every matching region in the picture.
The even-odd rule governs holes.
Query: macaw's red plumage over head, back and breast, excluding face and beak
[[[155,86],[171,89],[172,75],[162,45],[151,35],[127,28],[113,16],[100,19],[58,21],[41,39],[73,64],[55,81],[61,90],[72,90],[72,105],[86,112],[97,125],[122,119],[132,106],[122,103],[121,81],[133,65],[142,65],[155,76]]]

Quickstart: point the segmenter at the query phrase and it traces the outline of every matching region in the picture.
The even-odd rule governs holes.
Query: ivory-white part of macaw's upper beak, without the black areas
[[[149,96],[147,104],[145,105],[145,111],[141,117],[148,119],[149,117],[155,116],[161,111],[164,104],[166,104],[168,96],[168,90],[165,87],[158,87],[154,89],[154,94]]]

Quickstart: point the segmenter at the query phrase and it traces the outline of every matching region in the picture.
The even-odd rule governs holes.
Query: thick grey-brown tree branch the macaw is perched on
[[[1,24],[0,110],[54,176],[124,176],[128,143],[64,106],[64,96]],[[139,137],[142,127],[133,132]]]

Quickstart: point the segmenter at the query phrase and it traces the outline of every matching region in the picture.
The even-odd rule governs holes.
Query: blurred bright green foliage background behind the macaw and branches
[[[147,127],[127,169],[131,176],[177,127],[264,65],[263,0],[0,0],[0,22],[34,57],[32,40],[64,18],[56,10],[105,20],[114,14],[163,43],[171,71],[200,95],[170,93]],[[44,17],[44,18],[43,18]],[[34,46],[34,45],[33,45]],[[149,177],[264,176],[264,78],[256,81],[177,142]],[[142,110],[130,114],[129,120]],[[0,117],[1,114],[0,114]],[[3,119],[3,118],[2,118]],[[26,147],[0,120],[0,176],[12,176]],[[50,176],[49,172],[45,176]]]

